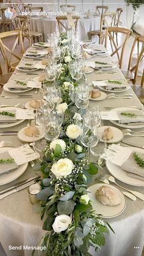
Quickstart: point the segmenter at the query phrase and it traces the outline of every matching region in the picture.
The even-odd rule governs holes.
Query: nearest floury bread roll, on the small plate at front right
[[[100,203],[103,203],[103,205],[114,206],[119,205],[121,202],[120,197],[109,186],[101,186],[97,189],[95,197]]]

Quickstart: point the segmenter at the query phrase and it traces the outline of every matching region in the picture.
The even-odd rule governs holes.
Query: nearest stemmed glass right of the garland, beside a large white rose
[[[94,147],[98,143],[98,129],[97,127],[89,128],[88,126],[82,126],[81,143],[88,148],[88,163],[90,163],[90,148]]]

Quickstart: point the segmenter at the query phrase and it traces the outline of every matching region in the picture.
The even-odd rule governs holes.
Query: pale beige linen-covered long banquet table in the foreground
[[[93,57],[88,61],[99,60],[106,62],[112,61],[112,58],[106,57]],[[103,80],[103,79],[123,79],[123,74],[118,69],[115,68],[118,72],[112,75],[108,74],[96,74],[95,71],[87,75],[87,78],[90,81],[94,80]],[[18,70],[16,71],[18,73]],[[41,71],[36,71],[41,74]],[[20,72],[21,73],[21,72]],[[36,75],[21,75],[20,79],[34,78]],[[18,78],[16,75],[12,75],[10,79]],[[109,99],[91,102],[90,105],[95,106],[98,104],[100,110],[106,110],[104,107],[110,106],[112,108],[118,108],[120,106],[137,106],[142,108],[142,104],[139,99],[136,97],[132,89],[130,88],[128,93],[132,93],[134,96],[132,99]],[[125,92],[119,93],[123,95]],[[26,93],[21,93],[21,95],[28,94],[33,95],[34,98],[40,98],[40,93],[35,94],[34,89]],[[9,106],[14,106],[17,103],[20,103],[20,99],[7,99],[2,96],[12,95],[12,93],[3,92],[1,93],[0,103],[7,104]],[[21,103],[26,103],[29,99],[21,99]],[[10,130],[20,130],[26,126],[26,121],[20,125],[10,128]],[[103,125],[112,125],[108,120],[103,122]],[[9,128],[4,128],[2,130],[9,130]],[[141,131],[143,129],[138,129]],[[130,138],[131,141],[135,141],[135,137]],[[17,136],[0,136],[0,141],[10,140],[13,142],[15,147],[21,145],[20,140]],[[143,137],[140,137],[137,140],[137,143],[144,145]],[[126,144],[122,144],[126,147]],[[28,173],[32,173],[32,168],[29,166],[26,172],[21,176],[25,177]],[[106,167],[103,170],[99,170],[98,174],[108,173]],[[25,176],[24,176],[25,175]],[[118,181],[121,185],[126,186],[129,189],[135,189],[136,191],[142,192],[144,194],[144,187],[126,185]],[[5,185],[6,186],[6,185]],[[140,199],[132,201],[131,199],[126,198],[126,209],[119,216],[107,219],[107,221],[112,225],[112,228],[115,230],[115,234],[110,232],[110,235],[106,235],[106,245],[102,247],[101,251],[96,254],[92,253],[93,256],[140,256],[142,255],[143,242],[144,242],[144,202]],[[42,230],[43,221],[40,221],[40,215],[35,213],[32,209],[32,205],[29,201],[29,196],[27,189],[12,194],[4,199],[0,200],[0,242],[7,256],[29,256],[31,255],[31,250],[15,250],[10,251],[9,245],[12,246],[35,246],[40,241],[41,236],[43,235],[44,230]],[[35,255],[38,255],[36,252]],[[41,254],[40,254],[41,255]],[[44,255],[44,254],[43,254]],[[50,255],[49,255],[50,256]]]

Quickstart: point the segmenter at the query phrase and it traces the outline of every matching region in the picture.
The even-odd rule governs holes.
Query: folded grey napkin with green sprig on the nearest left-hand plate
[[[0,174],[7,174],[12,170],[18,168],[18,165],[12,160],[12,163],[1,163],[1,159],[13,159],[8,152],[3,152],[0,154]]]

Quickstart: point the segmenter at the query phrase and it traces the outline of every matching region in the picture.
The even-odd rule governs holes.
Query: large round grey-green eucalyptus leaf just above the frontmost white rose
[[[74,200],[60,201],[57,203],[57,211],[59,214],[70,215],[74,210]]]

